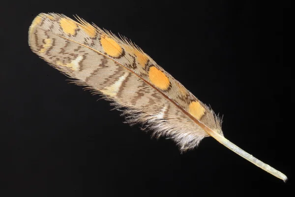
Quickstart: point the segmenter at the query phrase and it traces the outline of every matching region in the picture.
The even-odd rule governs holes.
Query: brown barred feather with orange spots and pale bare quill
[[[221,119],[176,79],[126,38],[77,17],[39,14],[29,27],[31,50],[76,84],[122,108],[130,124],[144,124],[153,135],[172,138],[181,152],[214,137],[274,176],[287,177],[227,140]]]

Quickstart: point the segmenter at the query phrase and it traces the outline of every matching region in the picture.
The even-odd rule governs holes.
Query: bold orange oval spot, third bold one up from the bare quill
[[[100,43],[104,52],[114,58],[119,57],[123,52],[123,49],[120,47],[120,45],[107,35],[101,36]]]

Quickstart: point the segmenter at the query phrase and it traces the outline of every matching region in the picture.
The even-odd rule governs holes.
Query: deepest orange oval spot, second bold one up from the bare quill
[[[170,85],[170,81],[169,81],[168,77],[161,70],[156,68],[155,66],[151,66],[149,68],[148,77],[149,77],[150,82],[156,88],[159,88],[161,90],[167,90]]]

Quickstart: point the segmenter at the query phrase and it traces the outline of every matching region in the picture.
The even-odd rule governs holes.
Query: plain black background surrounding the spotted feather
[[[123,124],[108,101],[30,51],[29,25],[40,12],[77,14],[130,38],[224,115],[229,140],[289,182],[213,138],[180,154],[173,141]],[[283,64],[277,2],[10,1],[0,14],[2,197],[256,197],[291,188],[294,76]]]

